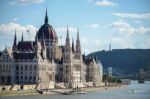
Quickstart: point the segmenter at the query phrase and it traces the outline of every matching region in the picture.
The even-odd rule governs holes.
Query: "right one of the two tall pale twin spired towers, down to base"
[[[77,29],[77,40],[75,52],[72,60],[73,64],[73,87],[84,87],[85,83],[85,65],[83,64],[82,54],[81,54],[81,45],[79,31]]]

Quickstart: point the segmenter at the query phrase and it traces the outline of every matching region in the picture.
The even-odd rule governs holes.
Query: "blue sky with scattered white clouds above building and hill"
[[[26,41],[34,40],[46,8],[60,45],[68,26],[74,41],[79,29],[85,54],[109,50],[110,43],[112,49],[148,49],[149,4],[150,0],[0,0],[0,50],[12,47],[15,31],[18,41],[22,32]]]

